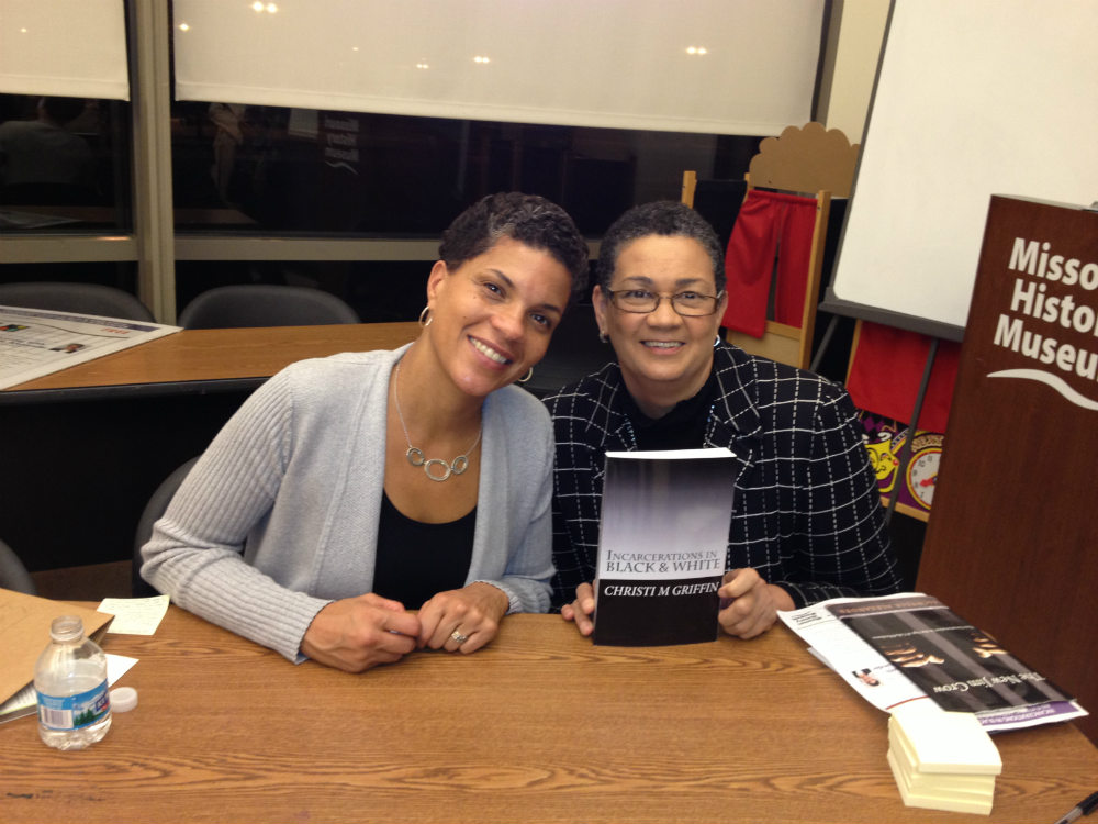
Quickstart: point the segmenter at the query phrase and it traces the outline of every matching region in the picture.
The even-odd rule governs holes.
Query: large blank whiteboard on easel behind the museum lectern
[[[836,311],[963,327],[991,194],[1098,200],[1096,35],[1094,0],[894,0]]]

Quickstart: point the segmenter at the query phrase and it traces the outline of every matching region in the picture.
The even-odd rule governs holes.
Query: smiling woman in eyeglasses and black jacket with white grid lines
[[[612,363],[546,398],[557,437],[553,603],[592,632],[607,450],[728,447],[736,491],[721,627],[899,587],[876,478],[847,392],[719,339],[719,242],[688,207],[635,207],[603,238],[593,301]]]

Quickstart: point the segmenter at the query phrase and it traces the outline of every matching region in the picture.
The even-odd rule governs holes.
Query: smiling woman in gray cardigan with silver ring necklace
[[[507,613],[548,609],[552,435],[511,385],[582,288],[586,245],[559,207],[496,194],[439,258],[414,343],[304,360],[256,390],[156,523],[146,580],[350,671],[471,653]]]

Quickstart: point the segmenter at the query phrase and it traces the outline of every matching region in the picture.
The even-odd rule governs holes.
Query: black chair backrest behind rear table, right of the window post
[[[333,323],[361,323],[361,319],[330,292],[272,283],[219,286],[195,297],[179,314],[179,325],[183,329]]]

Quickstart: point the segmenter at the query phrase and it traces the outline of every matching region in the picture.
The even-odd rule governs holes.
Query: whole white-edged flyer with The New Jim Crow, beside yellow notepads
[[[886,712],[929,699],[944,710],[975,713],[990,733],[1088,714],[986,633],[918,592],[836,598],[778,616],[809,644],[809,653]],[[853,628],[851,622],[861,619],[872,622],[867,628],[861,621],[860,631],[875,633],[876,648]]]

